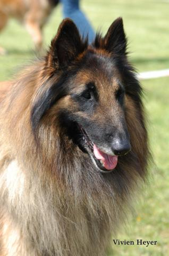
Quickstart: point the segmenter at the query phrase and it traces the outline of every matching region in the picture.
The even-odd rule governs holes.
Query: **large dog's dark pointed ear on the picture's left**
[[[47,65],[64,68],[87,47],[82,42],[78,28],[71,19],[64,19],[51,42],[47,56]]]

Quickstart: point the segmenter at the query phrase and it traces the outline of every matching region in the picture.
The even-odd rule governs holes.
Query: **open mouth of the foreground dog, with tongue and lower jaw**
[[[92,161],[98,167],[101,172],[111,172],[115,169],[117,165],[117,156],[108,155],[100,150],[92,141],[90,140],[86,131],[81,127],[80,131],[83,135],[82,140],[85,142],[85,145],[88,147],[90,151],[90,156]]]

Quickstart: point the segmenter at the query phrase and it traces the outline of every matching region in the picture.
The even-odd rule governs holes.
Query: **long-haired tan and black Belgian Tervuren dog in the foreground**
[[[103,256],[145,180],[142,90],[121,18],[92,45],[70,19],[1,85],[1,256]]]

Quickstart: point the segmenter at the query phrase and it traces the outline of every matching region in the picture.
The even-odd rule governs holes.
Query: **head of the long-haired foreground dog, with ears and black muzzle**
[[[92,45],[65,19],[46,57],[45,83],[38,89],[31,120],[36,133],[44,116],[62,127],[73,145],[88,154],[100,172],[115,169],[118,157],[131,150],[126,124],[128,97],[141,105],[140,85],[126,57],[121,18]]]

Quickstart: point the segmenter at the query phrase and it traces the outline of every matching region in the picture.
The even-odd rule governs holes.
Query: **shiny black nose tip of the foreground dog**
[[[131,145],[129,140],[119,140],[116,139],[112,145],[112,150],[116,156],[124,156],[131,150]]]

